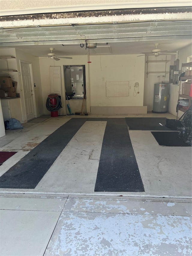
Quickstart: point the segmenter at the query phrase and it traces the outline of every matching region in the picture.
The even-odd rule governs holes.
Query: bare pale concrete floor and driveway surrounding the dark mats
[[[71,117],[7,130],[0,175]],[[94,192],[105,125],[85,122],[35,189],[0,189],[0,255],[191,255],[191,147],[129,131],[145,192]]]

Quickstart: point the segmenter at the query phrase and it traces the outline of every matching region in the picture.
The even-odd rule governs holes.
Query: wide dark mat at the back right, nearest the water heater
[[[166,117],[125,117],[129,130],[143,131],[171,131],[165,126],[166,119]]]

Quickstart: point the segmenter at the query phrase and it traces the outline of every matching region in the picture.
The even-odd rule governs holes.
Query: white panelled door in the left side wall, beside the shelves
[[[25,107],[26,107],[26,116],[27,116],[27,120],[30,120],[34,118],[35,115],[34,115],[33,93],[32,93],[31,74],[30,74],[29,64],[21,62],[21,75],[22,75]]]

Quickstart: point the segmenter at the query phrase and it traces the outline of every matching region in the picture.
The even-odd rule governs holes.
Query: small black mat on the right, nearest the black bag
[[[178,137],[179,132],[177,131],[152,131],[151,133],[160,146],[190,147],[189,144],[185,143]]]

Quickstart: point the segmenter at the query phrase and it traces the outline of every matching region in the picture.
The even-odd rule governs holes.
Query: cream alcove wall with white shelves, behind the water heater
[[[140,58],[140,57],[138,57]],[[166,71],[169,72],[171,59],[175,58],[175,55],[167,55],[167,60],[169,62],[158,62],[166,60],[166,55],[160,55],[157,58],[155,56],[146,56],[146,64],[145,64],[145,85],[144,85],[144,106],[147,106],[147,111],[153,110],[153,95],[154,95],[154,84],[163,82],[169,82],[169,73],[154,73],[148,74],[147,72],[161,72]],[[147,60],[148,61],[155,61],[149,62],[147,68]],[[164,77],[165,76],[165,77]]]

